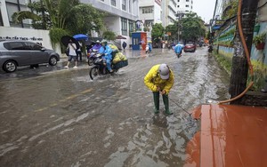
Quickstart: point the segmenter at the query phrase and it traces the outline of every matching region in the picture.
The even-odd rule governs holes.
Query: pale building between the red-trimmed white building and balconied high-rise
[[[176,20],[177,12],[177,1],[176,0],[162,0],[162,13],[163,13],[163,20],[162,25],[164,27],[174,24]]]

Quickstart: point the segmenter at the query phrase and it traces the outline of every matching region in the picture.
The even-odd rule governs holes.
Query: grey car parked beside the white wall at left
[[[18,40],[0,40],[0,67],[7,73],[16,71],[20,66],[37,66],[49,63],[55,66],[60,55],[43,46]]]

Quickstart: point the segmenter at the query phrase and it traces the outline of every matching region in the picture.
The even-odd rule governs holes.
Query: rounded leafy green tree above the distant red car
[[[180,23],[182,24],[182,39],[195,41],[198,37],[205,36],[204,21],[198,17],[197,13],[190,12],[185,14]]]

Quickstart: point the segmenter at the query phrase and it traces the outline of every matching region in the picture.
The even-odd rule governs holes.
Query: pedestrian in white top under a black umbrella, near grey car
[[[71,36],[62,36],[61,43],[67,46],[67,51],[69,51],[68,63],[64,68],[69,68],[69,63],[71,60],[75,61],[75,66],[73,68],[77,68],[77,49],[79,48],[79,44],[76,39]]]

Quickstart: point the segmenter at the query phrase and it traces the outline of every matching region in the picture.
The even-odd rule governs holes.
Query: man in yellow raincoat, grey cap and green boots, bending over
[[[144,77],[144,83],[151,91],[153,91],[155,114],[158,114],[159,112],[160,92],[162,94],[166,114],[172,115],[173,113],[169,110],[168,93],[174,84],[173,71],[166,64],[155,65],[150,68],[149,73]]]

